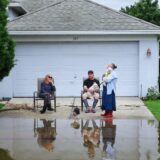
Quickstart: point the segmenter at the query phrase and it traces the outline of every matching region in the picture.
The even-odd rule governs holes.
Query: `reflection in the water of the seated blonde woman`
[[[56,139],[56,128],[52,127],[53,121],[47,121],[46,119],[42,121],[44,127],[37,128],[37,142],[48,151],[53,151],[53,142]]]

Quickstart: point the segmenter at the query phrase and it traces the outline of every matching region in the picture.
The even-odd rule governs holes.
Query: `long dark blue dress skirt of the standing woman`
[[[112,93],[110,95],[107,95],[107,87],[106,86],[103,86],[102,110],[116,111],[115,93],[114,93],[114,91],[112,91]]]

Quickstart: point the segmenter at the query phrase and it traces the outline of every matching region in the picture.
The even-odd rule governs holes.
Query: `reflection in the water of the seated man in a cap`
[[[100,144],[100,128],[94,120],[92,125],[93,127],[89,127],[89,120],[87,120],[82,130],[84,146],[88,148],[90,158],[95,156],[95,147],[99,147]]]

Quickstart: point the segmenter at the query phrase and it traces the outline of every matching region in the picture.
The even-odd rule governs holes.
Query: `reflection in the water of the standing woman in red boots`
[[[103,159],[115,160],[115,137],[116,137],[116,125],[113,125],[112,119],[106,119],[105,126],[102,127],[103,136],[103,151],[105,153]]]

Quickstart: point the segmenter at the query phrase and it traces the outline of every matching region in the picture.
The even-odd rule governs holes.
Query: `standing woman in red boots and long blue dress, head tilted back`
[[[102,110],[105,111],[101,116],[107,116],[112,118],[112,112],[116,111],[116,83],[117,75],[115,69],[117,66],[115,64],[109,64],[107,66],[107,72],[103,74],[103,94],[102,94]]]

